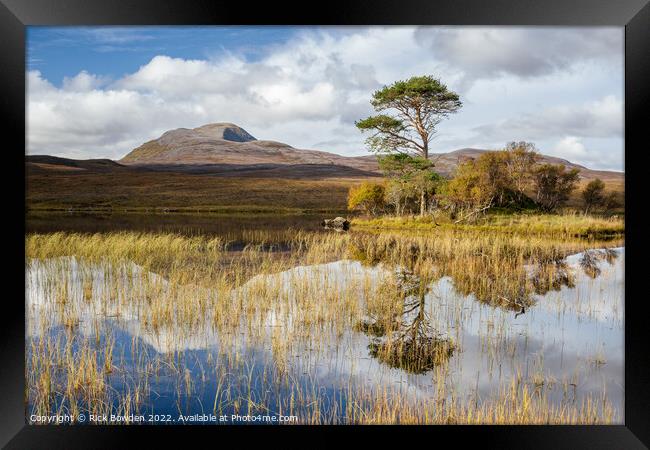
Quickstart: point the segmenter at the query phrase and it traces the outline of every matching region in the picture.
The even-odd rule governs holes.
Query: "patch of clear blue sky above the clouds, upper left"
[[[28,27],[27,67],[60,86],[85,70],[117,79],[156,55],[184,59],[228,51],[260,57],[269,45],[288,41],[299,27]]]

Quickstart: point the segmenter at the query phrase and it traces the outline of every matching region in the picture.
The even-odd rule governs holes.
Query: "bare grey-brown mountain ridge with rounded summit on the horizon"
[[[436,170],[450,177],[464,160],[478,158],[488,150],[463,148],[430,156]],[[580,169],[585,180],[601,178],[621,182],[622,172],[591,170],[565,159],[541,155],[542,163],[564,164]],[[330,176],[376,176],[377,158],[341,156],[319,150],[297,149],[276,141],[257,140],[243,128],[232,123],[212,123],[198,128],[178,128],[167,131],[158,139],[145,142],[134,149],[120,164],[149,168],[150,170],[182,170],[219,175],[264,174],[277,177],[308,177],[310,168]],[[324,167],[329,166],[329,167]],[[318,167],[318,170],[317,170]],[[354,171],[350,172],[350,169]]]

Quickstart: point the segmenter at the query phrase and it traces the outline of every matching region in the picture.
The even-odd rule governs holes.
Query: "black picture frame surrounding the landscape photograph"
[[[625,418],[612,426],[430,426],[430,427],[116,427],[116,426],[29,426],[25,423],[25,322],[24,270],[17,262],[25,257],[25,27],[29,25],[190,25],[190,24],[277,24],[277,25],[608,25],[625,27]],[[400,0],[328,2],[323,4],[279,4],[225,2],[221,0],[0,0],[0,106],[2,127],[13,142],[5,144],[3,178],[9,202],[5,226],[10,263],[6,281],[16,286],[3,301],[8,316],[0,325],[0,444],[6,448],[104,448],[134,443],[138,437],[170,443],[182,439],[221,439],[226,431],[235,437],[273,433],[280,444],[294,442],[311,446],[314,433],[337,434],[365,431],[384,439],[405,432],[426,433],[431,445],[478,439],[487,448],[647,448],[650,445],[650,370],[648,356],[647,295],[643,292],[643,270],[647,263],[643,236],[643,202],[647,192],[647,111],[650,106],[650,3],[648,0]],[[644,189],[646,187],[646,189]],[[23,219],[18,216],[23,214]],[[23,301],[21,301],[21,298]],[[303,441],[292,441],[295,432]],[[305,433],[307,431],[307,433]],[[370,431],[370,433],[367,433]],[[431,436],[429,436],[431,434]],[[197,437],[198,436],[198,437]],[[405,436],[401,436],[406,439]],[[192,439],[191,441],[188,439]],[[290,440],[291,439],[291,440]],[[410,439],[410,438],[409,438]],[[427,441],[424,441],[427,442]],[[235,445],[244,445],[244,442]],[[268,444],[267,444],[268,445]],[[449,444],[445,444],[449,445]]]

